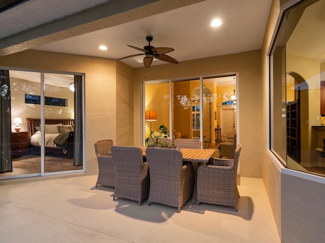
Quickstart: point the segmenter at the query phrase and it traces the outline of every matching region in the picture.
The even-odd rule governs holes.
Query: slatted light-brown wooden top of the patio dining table
[[[143,156],[146,156],[147,147],[139,147],[142,150]],[[184,161],[208,163],[211,156],[215,152],[214,149],[201,149],[201,148],[181,148]]]

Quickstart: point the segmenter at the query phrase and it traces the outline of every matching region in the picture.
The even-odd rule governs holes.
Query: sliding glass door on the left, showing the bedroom
[[[9,73],[13,170],[0,179],[83,170],[83,76]]]

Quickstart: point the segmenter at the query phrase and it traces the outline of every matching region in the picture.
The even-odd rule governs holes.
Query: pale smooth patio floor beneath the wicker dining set
[[[280,242],[262,179],[241,178],[238,212],[117,198],[97,176],[0,181],[3,242]]]

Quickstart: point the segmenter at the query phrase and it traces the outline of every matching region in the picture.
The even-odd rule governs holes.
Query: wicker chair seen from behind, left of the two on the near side
[[[113,146],[112,157],[116,173],[113,200],[116,197],[141,202],[149,195],[148,164],[143,163],[142,150],[138,147]]]

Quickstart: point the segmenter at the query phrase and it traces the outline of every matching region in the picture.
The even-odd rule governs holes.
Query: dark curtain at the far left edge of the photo
[[[0,70],[0,173],[12,172],[11,158],[11,102],[9,70]]]

